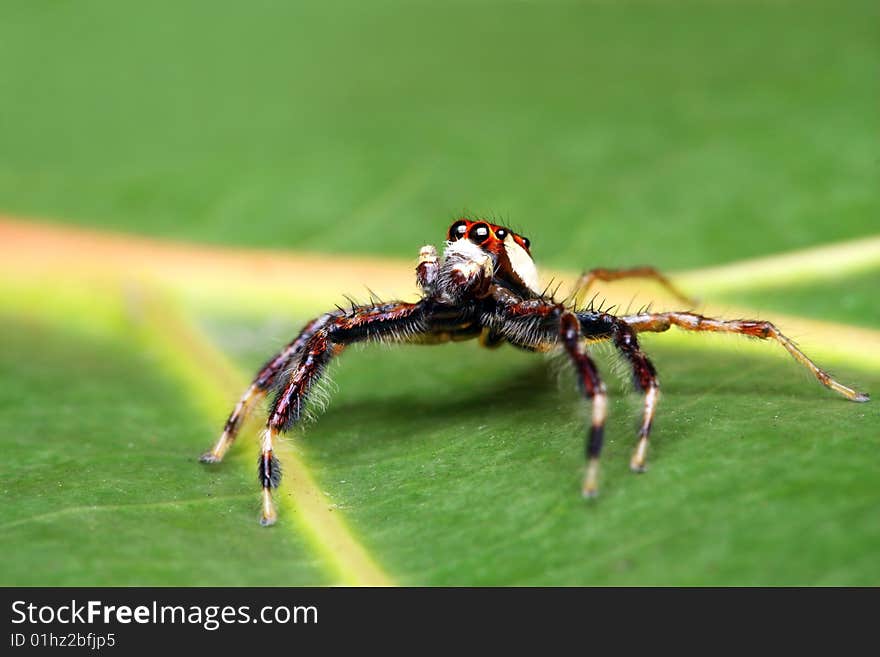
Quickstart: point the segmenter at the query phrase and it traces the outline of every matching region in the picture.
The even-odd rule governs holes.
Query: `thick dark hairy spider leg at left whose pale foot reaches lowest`
[[[273,453],[275,440],[287,432],[303,415],[309,393],[326,371],[334,356],[355,342],[407,342],[425,332],[425,304],[402,302],[355,306],[350,311],[331,314],[310,335],[295,366],[279,377],[277,394],[269,411],[258,462],[262,486],[260,523],[271,525],[277,514],[272,491],[281,482],[281,464]]]

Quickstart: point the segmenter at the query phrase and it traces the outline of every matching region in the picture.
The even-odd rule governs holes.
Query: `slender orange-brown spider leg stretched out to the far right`
[[[816,365],[807,355],[802,352],[794,342],[783,335],[779,329],[770,322],[756,319],[713,319],[703,317],[696,313],[669,312],[669,313],[642,313],[627,315],[621,319],[629,324],[637,332],[649,331],[661,333],[671,326],[678,326],[686,331],[712,331],[716,333],[736,333],[761,340],[775,340],[782,345],[791,356],[813,373],[819,383],[826,388],[843,395],[850,401],[866,402],[870,399],[867,393],[858,392],[843,385],[834,379],[828,372]]]

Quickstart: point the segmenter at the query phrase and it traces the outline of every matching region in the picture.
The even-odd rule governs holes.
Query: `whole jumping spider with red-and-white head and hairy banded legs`
[[[582,298],[595,281],[629,277],[654,279],[687,302],[665,276],[651,267],[594,269],[581,276],[570,299]],[[422,247],[416,280],[422,297],[415,303],[352,303],[348,309],[337,306],[306,324],[292,342],[260,369],[229,415],[214,448],[202,455],[204,463],[219,462],[248,412],[259,399],[274,391],[257,464],[262,486],[262,525],[272,525],[277,519],[272,491],[281,481],[281,465],[273,446],[281,434],[302,419],[310,393],[314,393],[331,359],[353,343],[439,344],[475,338],[484,347],[507,342],[531,352],[563,352],[574,366],[583,396],[592,401],[582,487],[587,498],[595,497],[599,491],[599,454],[607,405],[605,384],[590,358],[588,343],[613,344],[627,361],[635,387],[643,395],[637,443],[630,460],[634,472],[644,472],[646,468],[648,438],[660,390],[654,366],[639,346],[638,334],[642,332],[662,332],[677,326],[686,331],[735,333],[773,340],[826,388],[851,401],[869,399],[867,394],[833,379],[770,322],[712,319],[689,311],[617,316],[592,307],[579,308],[570,301],[560,303],[538,285],[528,238],[485,220],[455,221],[449,228],[442,258],[433,246]]]

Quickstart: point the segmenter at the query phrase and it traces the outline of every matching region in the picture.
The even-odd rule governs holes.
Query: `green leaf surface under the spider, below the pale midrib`
[[[209,325],[253,368],[281,324]],[[166,368],[142,343],[3,327],[4,582],[335,581],[294,514],[257,525],[252,430],[219,468],[195,462],[222,415],[151,374]],[[564,368],[557,382],[553,363],[510,349],[350,351],[295,442],[402,583],[880,581],[875,405],[828,394],[768,345],[719,355],[664,337],[646,340],[664,382],[651,470],[627,470],[638,402],[612,386],[594,503],[578,492],[583,401]]]

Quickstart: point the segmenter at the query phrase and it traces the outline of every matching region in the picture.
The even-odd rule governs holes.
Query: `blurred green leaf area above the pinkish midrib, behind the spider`
[[[410,256],[470,209],[571,267],[876,231],[876,2],[0,11],[10,212]]]

